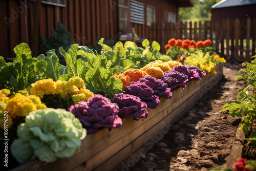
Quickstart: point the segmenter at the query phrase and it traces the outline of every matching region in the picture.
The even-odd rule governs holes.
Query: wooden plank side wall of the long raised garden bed
[[[216,66],[216,75],[207,74],[200,81],[191,80],[185,89],[173,91],[172,99],[160,98],[157,109],[148,109],[148,117],[134,121],[123,118],[119,129],[102,129],[82,140],[80,152],[53,163],[33,160],[13,170],[129,170],[140,157],[168,132],[170,125],[212,87],[223,75],[223,65]]]

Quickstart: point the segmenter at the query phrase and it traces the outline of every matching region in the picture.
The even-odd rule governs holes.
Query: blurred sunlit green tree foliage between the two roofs
[[[211,20],[211,13],[207,10],[221,0],[193,0],[194,7],[179,8],[180,22],[199,22]]]

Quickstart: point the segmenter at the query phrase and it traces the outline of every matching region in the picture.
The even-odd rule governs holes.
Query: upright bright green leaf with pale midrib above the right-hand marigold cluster
[[[78,49],[78,45],[74,44],[72,45],[68,52],[66,53],[65,50],[60,47],[59,48],[59,52],[62,56],[64,56],[65,60],[66,60],[66,64],[67,64],[67,68],[68,68],[68,73],[71,77],[73,76],[77,76],[77,72],[76,72],[76,58],[77,58],[77,50]]]

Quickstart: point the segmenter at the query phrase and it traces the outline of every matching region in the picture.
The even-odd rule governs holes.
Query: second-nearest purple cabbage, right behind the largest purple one
[[[148,116],[146,103],[137,96],[118,93],[111,98],[111,101],[119,106],[118,115],[120,117],[132,116],[134,120],[138,120]]]

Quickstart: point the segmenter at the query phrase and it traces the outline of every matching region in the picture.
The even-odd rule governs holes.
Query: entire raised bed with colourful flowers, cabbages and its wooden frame
[[[187,55],[185,60],[169,49],[166,54],[172,52],[172,58],[160,54],[156,41],[150,47],[145,39],[144,49],[131,41],[117,42],[111,48],[101,39],[100,54],[78,45],[68,52],[59,48],[66,66],[60,65],[55,50],[32,58],[28,45],[16,46],[13,63],[0,57],[1,127],[9,133],[1,141],[9,139],[11,153],[7,155],[19,163],[37,158],[40,167],[55,165],[66,170],[79,169],[81,163],[88,170],[100,164],[116,166],[120,156],[129,155],[123,155],[124,151],[135,152],[145,137],[162,130],[162,121],[166,126],[185,112],[205,93],[203,87],[220,78],[207,74],[201,80],[206,72],[216,74],[217,63],[225,60],[207,51],[209,41],[196,47],[191,42],[168,42],[169,49]],[[194,66],[182,65],[184,62]],[[159,110],[153,110],[156,108]],[[120,160],[113,164],[117,158]],[[104,164],[106,161],[111,162]],[[28,165],[17,169],[24,166]]]

